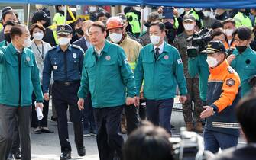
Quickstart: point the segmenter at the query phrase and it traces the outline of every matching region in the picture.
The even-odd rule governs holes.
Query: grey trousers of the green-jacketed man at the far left
[[[6,160],[11,151],[17,118],[21,138],[21,159],[31,159],[31,107],[9,107],[0,104],[0,160]]]

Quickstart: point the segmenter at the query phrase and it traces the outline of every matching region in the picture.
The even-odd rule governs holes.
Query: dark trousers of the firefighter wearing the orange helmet
[[[132,131],[138,128],[138,112],[134,104],[125,106],[125,118],[127,125],[127,134],[130,135]]]

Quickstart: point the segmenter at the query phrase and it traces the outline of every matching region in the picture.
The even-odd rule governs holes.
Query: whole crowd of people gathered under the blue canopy
[[[31,159],[31,127],[53,133],[50,97],[60,160],[71,158],[68,120],[79,156],[86,155],[83,136],[96,136],[101,160],[173,159],[168,139],[177,95],[186,130],[203,133],[205,150],[237,146],[239,129],[255,142],[249,93],[256,86],[256,9],[159,7],[141,34],[141,13],[133,7],[111,16],[89,6],[84,20],[69,8],[65,19],[65,7],[56,5],[53,21],[44,5],[36,8],[29,27],[11,7],[2,8],[0,160]],[[141,120],[154,126],[139,127]],[[253,159],[255,149],[218,159]]]

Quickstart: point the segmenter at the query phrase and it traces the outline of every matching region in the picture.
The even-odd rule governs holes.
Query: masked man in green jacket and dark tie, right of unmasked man
[[[170,133],[170,115],[177,85],[182,103],[186,101],[187,90],[180,54],[176,48],[164,42],[164,30],[161,22],[151,24],[151,44],[141,49],[134,75],[136,94],[140,93],[144,80],[147,120]]]

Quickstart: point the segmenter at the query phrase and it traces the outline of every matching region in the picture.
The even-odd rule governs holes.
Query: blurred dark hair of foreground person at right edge
[[[248,142],[256,142],[256,91],[252,90],[238,102],[236,117]]]

